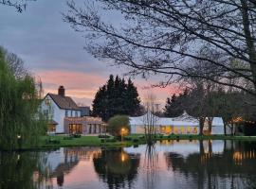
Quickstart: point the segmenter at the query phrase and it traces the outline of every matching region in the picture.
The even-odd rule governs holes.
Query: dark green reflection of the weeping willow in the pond
[[[39,152],[1,152],[0,188],[36,189],[43,177],[42,154]]]

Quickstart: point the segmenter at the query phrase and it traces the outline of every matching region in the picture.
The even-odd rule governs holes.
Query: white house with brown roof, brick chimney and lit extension
[[[101,118],[84,116],[89,115],[89,108],[79,107],[66,96],[64,86],[59,87],[58,94],[46,94],[41,107],[48,118],[48,133],[97,134],[104,130]]]

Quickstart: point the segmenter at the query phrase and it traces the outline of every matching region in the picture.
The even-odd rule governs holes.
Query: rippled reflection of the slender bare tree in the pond
[[[157,166],[158,154],[155,152],[155,145],[147,145],[143,160],[143,168],[146,174],[145,188],[155,188],[157,183]]]

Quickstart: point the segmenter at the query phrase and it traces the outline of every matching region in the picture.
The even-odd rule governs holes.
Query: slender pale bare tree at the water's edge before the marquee
[[[144,133],[148,145],[154,145],[157,132],[156,123],[158,117],[155,115],[155,101],[156,97],[154,94],[147,94],[143,102],[146,114],[142,116],[142,122],[144,124]]]

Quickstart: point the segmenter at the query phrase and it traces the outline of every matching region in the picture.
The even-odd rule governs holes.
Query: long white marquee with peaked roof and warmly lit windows
[[[142,116],[129,118],[131,133],[144,133],[145,126],[151,122],[154,123],[157,133],[199,134],[199,121],[187,112],[183,112],[178,117],[158,117],[152,114],[152,112],[147,112]],[[222,118],[213,118],[211,134],[224,134]]]

